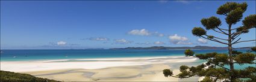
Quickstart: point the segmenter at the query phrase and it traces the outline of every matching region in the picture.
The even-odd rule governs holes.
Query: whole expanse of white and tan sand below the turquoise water
[[[166,78],[162,70],[171,68],[175,74],[178,74],[180,65],[192,64],[196,60],[198,59],[195,57],[169,56],[30,62],[1,61],[1,70],[22,72],[60,81],[186,81],[188,78]],[[192,77],[189,80],[198,81],[198,78]]]

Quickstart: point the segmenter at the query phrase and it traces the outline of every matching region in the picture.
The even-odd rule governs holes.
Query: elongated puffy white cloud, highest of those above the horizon
[[[146,29],[134,29],[134,30],[128,32],[128,34],[130,34],[130,35],[141,35],[141,36],[153,35],[153,36],[157,36],[157,37],[163,37],[164,36],[164,34],[160,34],[158,32],[149,32]]]

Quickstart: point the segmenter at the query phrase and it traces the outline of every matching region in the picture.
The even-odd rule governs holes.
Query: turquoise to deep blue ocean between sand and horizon
[[[81,49],[81,50],[1,50],[1,61],[33,61],[33,60],[62,60],[62,59],[97,59],[118,57],[158,57],[184,56],[185,50],[111,50],[111,49]],[[193,50],[199,53],[228,53],[228,50]],[[246,50],[238,50],[245,52]],[[200,62],[205,62],[201,60]],[[243,69],[252,65],[235,65]]]

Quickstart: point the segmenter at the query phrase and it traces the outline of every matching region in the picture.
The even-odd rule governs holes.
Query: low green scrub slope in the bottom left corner
[[[30,74],[20,74],[9,71],[1,71],[1,82],[60,82],[56,80],[49,80],[47,78],[34,77]]]

